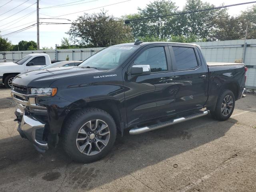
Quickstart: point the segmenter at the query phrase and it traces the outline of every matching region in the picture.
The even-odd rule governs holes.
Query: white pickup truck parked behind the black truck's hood
[[[36,70],[42,66],[51,64],[50,57],[45,53],[28,54],[17,62],[0,63],[0,84],[11,88],[12,80],[20,73]]]

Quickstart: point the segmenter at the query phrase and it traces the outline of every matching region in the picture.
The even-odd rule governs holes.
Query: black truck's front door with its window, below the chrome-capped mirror
[[[175,113],[174,72],[168,46],[146,46],[130,65],[150,65],[148,75],[124,76],[128,124]]]

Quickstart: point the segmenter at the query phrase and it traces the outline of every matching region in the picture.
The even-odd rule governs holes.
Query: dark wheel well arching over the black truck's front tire
[[[89,103],[79,103],[79,108],[73,108],[72,110],[70,110],[70,112],[67,114],[66,117],[71,116],[76,111],[81,110],[82,108],[87,108],[87,107],[98,108],[98,109],[104,110],[108,114],[110,114],[116,123],[117,130],[122,131],[121,130],[121,115],[120,115],[120,111],[117,106],[118,106],[118,104],[112,100],[102,100],[102,101],[94,101],[94,102],[89,102]],[[67,120],[67,118],[64,120],[64,123],[66,120]]]

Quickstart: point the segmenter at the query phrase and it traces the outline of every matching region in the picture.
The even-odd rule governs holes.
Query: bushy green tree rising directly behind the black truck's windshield
[[[122,22],[116,22],[104,10],[97,14],[84,14],[72,23],[67,32],[80,45],[105,47],[132,40],[131,30]]]

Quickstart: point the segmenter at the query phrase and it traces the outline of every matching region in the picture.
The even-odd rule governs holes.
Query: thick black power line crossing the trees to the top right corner
[[[238,4],[232,4],[232,5],[224,5],[224,6],[218,6],[218,7],[207,8],[207,9],[201,9],[201,10],[195,10],[195,11],[179,12],[179,13],[173,13],[173,14],[162,15],[162,16],[160,15],[160,16],[154,16],[154,17],[137,18],[137,19],[127,19],[127,20],[118,20],[118,21],[136,21],[136,20],[145,20],[145,19],[161,18],[161,17],[167,17],[167,16],[174,16],[174,15],[181,15],[181,14],[196,13],[196,12],[209,11],[209,10],[214,10],[214,9],[221,9],[221,8],[227,8],[227,7],[232,7],[232,6],[244,5],[244,4],[252,4],[252,3],[256,3],[256,1],[245,2],[245,3],[238,3]]]

